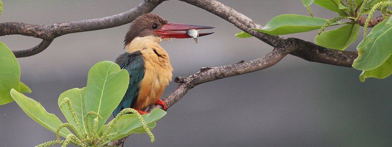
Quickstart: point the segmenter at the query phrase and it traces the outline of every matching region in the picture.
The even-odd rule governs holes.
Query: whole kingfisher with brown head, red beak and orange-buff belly
[[[113,111],[116,117],[125,108],[134,108],[140,114],[153,104],[166,104],[160,97],[172,81],[172,65],[168,53],[160,43],[172,38],[193,38],[185,31],[211,29],[212,26],[169,23],[162,17],[147,13],[136,18],[124,38],[125,53],[116,63],[129,73],[129,86],[119,106]],[[198,36],[212,34],[199,33]]]

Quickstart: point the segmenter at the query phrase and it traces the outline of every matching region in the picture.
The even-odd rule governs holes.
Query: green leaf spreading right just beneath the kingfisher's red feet
[[[148,127],[151,127],[151,123],[158,121],[165,115],[166,111],[162,109],[154,109],[151,111],[151,113],[144,114],[142,115],[142,117],[147,123]],[[112,122],[109,122],[108,125],[110,123]],[[108,126],[106,126],[106,128],[107,127]],[[117,121],[114,129],[112,130],[110,135],[108,135],[108,139],[110,141],[115,141],[132,133],[143,133],[142,129],[143,125],[142,123],[140,123],[140,120],[135,114],[126,114]],[[104,131],[105,129],[102,129],[102,132]]]

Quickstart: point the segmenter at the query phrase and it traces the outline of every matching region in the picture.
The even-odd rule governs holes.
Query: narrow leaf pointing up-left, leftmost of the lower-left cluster
[[[60,119],[54,114],[48,113],[45,108],[42,107],[41,103],[26,97],[15,89],[12,89],[10,93],[12,98],[14,98],[27,116],[50,131],[56,132],[57,128],[62,124]],[[67,137],[68,134],[71,134],[71,132],[67,128],[62,128],[59,132],[59,135],[63,137]]]

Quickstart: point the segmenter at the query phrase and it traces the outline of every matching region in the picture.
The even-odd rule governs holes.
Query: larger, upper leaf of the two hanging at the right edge
[[[392,25],[383,21],[373,27],[366,40],[357,47],[358,57],[352,67],[357,70],[370,71],[381,66],[392,54]]]

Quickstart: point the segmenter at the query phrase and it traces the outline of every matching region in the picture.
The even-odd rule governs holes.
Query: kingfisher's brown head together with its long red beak
[[[136,37],[156,36],[160,39],[165,38],[191,38],[185,33],[189,29],[209,29],[212,26],[202,25],[185,25],[169,23],[167,20],[155,14],[143,14],[136,18],[130,25],[128,32],[125,35],[124,45],[128,45]],[[178,32],[183,31],[183,32]],[[205,36],[211,33],[199,33],[199,36]]]

